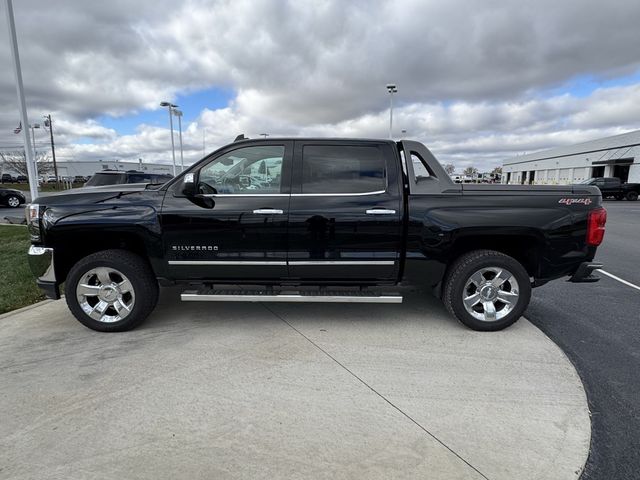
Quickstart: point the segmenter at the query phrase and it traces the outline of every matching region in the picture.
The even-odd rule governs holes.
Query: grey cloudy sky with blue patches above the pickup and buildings
[[[4,3],[0,148],[19,146]],[[239,134],[388,135],[487,170],[640,128],[637,0],[14,0],[31,123],[64,160],[185,162]],[[401,131],[406,130],[406,134]],[[47,132],[36,131],[40,150]],[[177,141],[177,136],[176,136]]]

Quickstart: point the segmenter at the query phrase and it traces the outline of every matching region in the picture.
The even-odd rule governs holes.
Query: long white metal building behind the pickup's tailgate
[[[531,153],[502,166],[502,182],[562,185],[591,177],[640,183],[640,130]]]

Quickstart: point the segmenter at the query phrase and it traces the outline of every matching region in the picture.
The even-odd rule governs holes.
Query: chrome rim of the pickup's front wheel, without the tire
[[[104,323],[124,319],[136,300],[129,279],[108,267],[93,268],[85,273],[76,286],[76,298],[84,313]]]

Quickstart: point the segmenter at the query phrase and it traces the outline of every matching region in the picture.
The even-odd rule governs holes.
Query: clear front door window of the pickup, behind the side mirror
[[[280,193],[284,146],[233,150],[200,170],[198,191],[205,194]]]

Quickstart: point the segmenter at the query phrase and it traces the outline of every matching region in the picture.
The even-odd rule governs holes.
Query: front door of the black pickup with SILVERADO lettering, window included
[[[231,145],[194,171],[197,194],[176,182],[161,221],[170,278],[287,277],[292,142]]]

